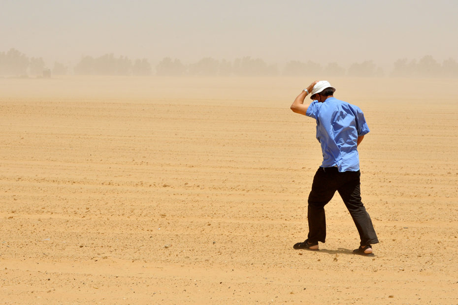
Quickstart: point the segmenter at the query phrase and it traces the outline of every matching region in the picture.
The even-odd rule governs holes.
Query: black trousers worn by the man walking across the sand
[[[340,173],[337,167],[318,168],[308,197],[309,242],[325,242],[325,205],[332,199],[335,191],[339,192],[348,212],[352,215],[360,234],[360,244],[377,244],[379,242],[370,216],[361,202],[360,175],[360,171]]]

